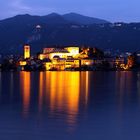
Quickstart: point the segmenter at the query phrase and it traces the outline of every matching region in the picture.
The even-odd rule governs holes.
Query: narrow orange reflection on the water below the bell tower
[[[20,73],[21,92],[23,98],[23,114],[25,117],[28,116],[30,106],[30,87],[31,87],[31,73],[21,72]]]

